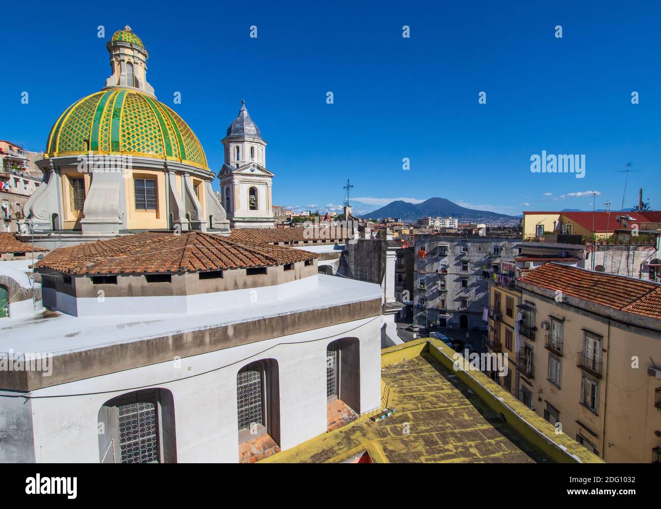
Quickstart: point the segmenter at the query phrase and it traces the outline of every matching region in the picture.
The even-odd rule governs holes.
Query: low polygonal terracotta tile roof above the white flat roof
[[[71,274],[188,272],[299,262],[315,254],[212,233],[147,231],[56,249],[35,264]]]

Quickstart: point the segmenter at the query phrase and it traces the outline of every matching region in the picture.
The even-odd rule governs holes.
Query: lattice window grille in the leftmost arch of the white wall
[[[159,463],[156,397],[132,399],[118,407],[120,462]]]

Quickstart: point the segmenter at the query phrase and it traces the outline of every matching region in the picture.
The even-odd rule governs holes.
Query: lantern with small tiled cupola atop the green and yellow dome
[[[110,69],[112,74],[106,79],[106,89],[129,88],[137,89],[152,97],[154,88],[147,82],[147,58],[142,40],[134,34],[130,26],[112,34],[106,45],[110,53]]]

